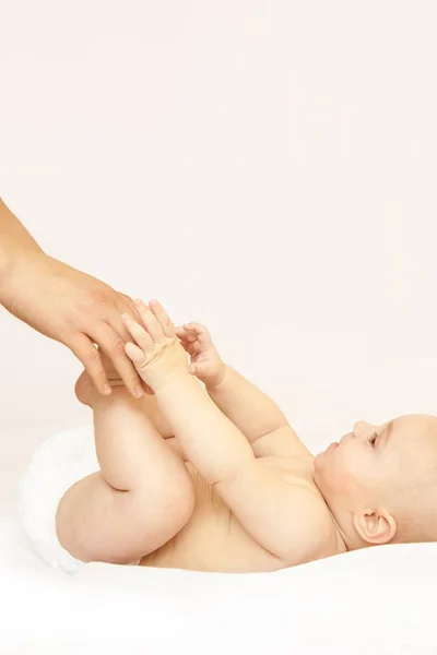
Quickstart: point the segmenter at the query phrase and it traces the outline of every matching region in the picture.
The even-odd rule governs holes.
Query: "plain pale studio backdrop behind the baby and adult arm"
[[[434,1],[0,8],[0,195],[49,254],[205,323],[315,452],[437,414]],[[10,510],[91,412],[67,348],[0,334]]]

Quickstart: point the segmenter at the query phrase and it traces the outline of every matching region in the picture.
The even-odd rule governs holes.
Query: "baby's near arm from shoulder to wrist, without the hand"
[[[332,521],[316,491],[256,458],[243,432],[194,378],[181,376],[154,391],[189,461],[263,548],[287,565],[324,555]]]

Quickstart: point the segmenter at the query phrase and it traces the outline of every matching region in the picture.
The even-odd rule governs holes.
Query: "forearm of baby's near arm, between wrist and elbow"
[[[154,391],[160,409],[188,460],[210,484],[232,479],[253,458],[245,436],[192,376],[176,378]]]

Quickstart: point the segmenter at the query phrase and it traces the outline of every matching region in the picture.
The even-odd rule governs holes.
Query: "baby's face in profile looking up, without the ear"
[[[434,416],[401,416],[380,426],[358,421],[317,455],[315,481],[333,510],[386,502],[435,457],[436,434]]]

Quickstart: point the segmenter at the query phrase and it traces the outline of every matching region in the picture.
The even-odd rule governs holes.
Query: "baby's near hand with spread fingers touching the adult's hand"
[[[142,380],[156,391],[168,380],[189,374],[187,355],[157,300],[151,300],[149,306],[141,300],[133,302],[142,325],[129,314],[122,314],[121,320],[133,337],[133,343],[128,342],[125,350]]]

